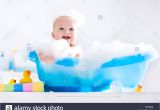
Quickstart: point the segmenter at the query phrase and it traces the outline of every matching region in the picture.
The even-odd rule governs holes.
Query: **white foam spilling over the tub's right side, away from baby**
[[[151,59],[158,58],[158,53],[152,45],[145,43],[129,44],[121,41],[113,41],[104,44],[98,41],[92,43],[91,48],[84,53],[79,68],[96,69],[103,63],[117,57],[130,56],[135,54],[147,54]]]

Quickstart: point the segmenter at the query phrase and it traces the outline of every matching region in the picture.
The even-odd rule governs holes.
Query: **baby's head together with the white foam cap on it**
[[[52,37],[64,39],[70,46],[76,45],[77,27],[84,24],[84,16],[76,10],[61,11],[53,22]]]

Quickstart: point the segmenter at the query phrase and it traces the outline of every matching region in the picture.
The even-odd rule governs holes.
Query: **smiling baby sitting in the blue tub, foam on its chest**
[[[77,23],[76,19],[69,15],[59,16],[53,22],[52,54],[38,52],[41,61],[52,63],[59,57],[81,56],[81,47],[76,44]]]

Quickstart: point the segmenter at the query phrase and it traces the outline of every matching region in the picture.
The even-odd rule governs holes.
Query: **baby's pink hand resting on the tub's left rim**
[[[38,53],[38,56],[39,56],[39,59],[42,61],[42,62],[45,62],[47,64],[51,64],[53,63],[54,61],[54,56],[53,55],[50,55],[50,54],[44,54],[42,52],[39,52]]]

